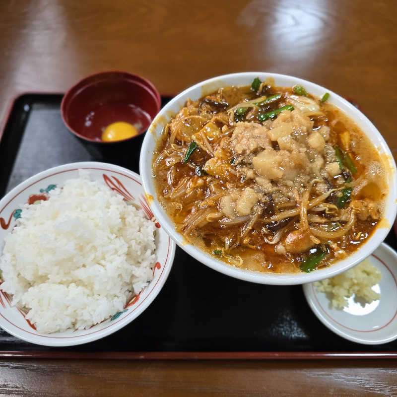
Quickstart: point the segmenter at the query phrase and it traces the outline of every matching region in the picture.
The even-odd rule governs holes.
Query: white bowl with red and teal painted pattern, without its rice
[[[0,250],[2,252],[4,237],[11,233],[19,216],[21,205],[37,196],[46,195],[51,185],[63,186],[67,179],[78,176],[79,169],[87,169],[90,175],[104,181],[112,190],[143,207],[148,218],[153,218],[139,175],[125,168],[98,162],[81,162],[50,168],[22,182],[0,200]],[[33,197],[36,196],[36,197]],[[154,300],[164,285],[171,270],[175,255],[175,243],[165,230],[156,222],[156,265],[153,279],[137,296],[133,297],[123,312],[86,330],[67,330],[65,332],[40,334],[25,319],[22,311],[10,306],[10,296],[1,291],[0,286],[0,327],[28,342],[47,346],[71,346],[91,342],[120,330],[131,323]]]

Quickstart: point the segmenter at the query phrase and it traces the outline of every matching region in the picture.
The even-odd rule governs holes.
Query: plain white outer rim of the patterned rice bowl
[[[96,161],[81,161],[81,162],[74,162],[74,163],[67,163],[67,164],[62,164],[56,167],[49,168],[47,170],[41,171],[25,181],[21,182],[17,186],[15,186],[12,190],[10,190],[1,200],[0,200],[0,210],[2,210],[14,197],[20,195],[24,190],[29,188],[31,185],[36,184],[40,180],[44,178],[48,178],[54,173],[59,173],[60,171],[68,172],[68,171],[74,171],[78,169],[99,169],[99,170],[104,170],[104,171],[110,171],[110,172],[118,172],[121,174],[127,174],[132,177],[132,179],[135,179],[139,184],[141,184],[141,178],[138,174],[135,172],[115,165],[111,163],[104,163],[104,162],[96,162]],[[143,189],[143,184],[142,184],[142,190]],[[165,229],[164,229],[165,230]],[[169,237],[169,235],[167,234]],[[127,326],[130,324],[135,318],[137,318],[150,304],[153,302],[153,300],[156,298],[158,293],[161,291],[164,283],[167,281],[167,278],[169,276],[169,273],[171,271],[173,262],[174,262],[174,257],[175,257],[175,242],[170,239],[169,240],[169,255],[167,258],[167,261],[164,266],[164,270],[161,273],[157,283],[154,285],[153,289],[151,290],[150,294],[147,295],[146,299],[140,304],[139,308],[133,311],[130,316],[123,317],[122,319],[118,319],[117,322],[114,322],[113,324],[107,326],[104,329],[98,330],[98,331],[93,331],[89,334],[86,335],[75,335],[75,336],[67,336],[67,337],[57,337],[55,336],[56,333],[50,333],[50,334],[36,334],[36,333],[31,333],[27,332],[17,325],[11,323],[7,318],[1,315],[3,319],[6,321],[5,324],[0,324],[0,327],[4,330],[7,331],[8,333],[16,336],[19,339],[25,340],[30,343],[34,344],[39,344],[43,346],[57,346],[57,347],[63,347],[63,346],[73,346],[73,345],[79,345],[83,343],[88,343],[92,342],[94,340],[101,339],[105,336],[108,336],[116,331],[119,331],[123,327]],[[2,252],[2,248],[1,248]],[[1,255],[0,252],[0,255]],[[8,326],[7,323],[10,323]],[[16,331],[16,329],[20,329],[21,331]]]

